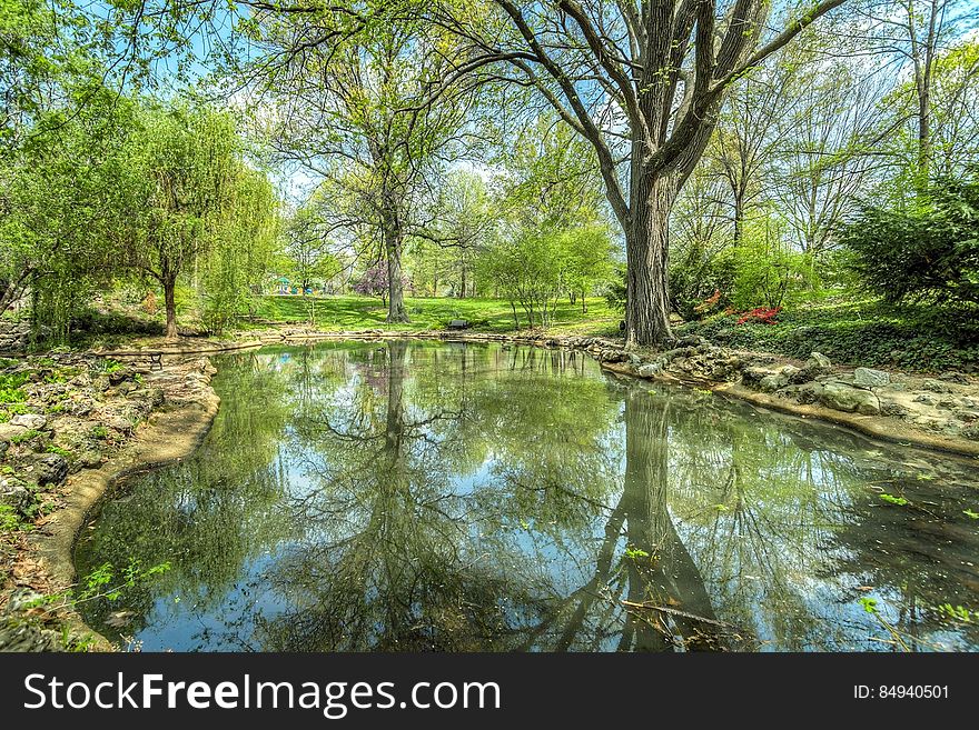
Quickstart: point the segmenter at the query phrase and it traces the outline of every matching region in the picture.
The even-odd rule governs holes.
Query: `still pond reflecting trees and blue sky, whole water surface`
[[[121,483],[80,604],[175,651],[979,649],[979,463],[498,343],[215,358],[214,427]],[[109,569],[106,569],[106,566]]]

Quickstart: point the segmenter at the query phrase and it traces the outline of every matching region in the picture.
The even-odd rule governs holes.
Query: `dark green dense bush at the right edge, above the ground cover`
[[[887,301],[979,304],[979,171],[934,181],[907,210],[864,206],[839,232]]]

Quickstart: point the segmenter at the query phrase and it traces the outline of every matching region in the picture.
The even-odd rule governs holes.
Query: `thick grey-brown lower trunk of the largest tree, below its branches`
[[[666,267],[678,188],[670,174],[633,174],[632,219],[625,230],[626,346],[657,344],[672,336]]]

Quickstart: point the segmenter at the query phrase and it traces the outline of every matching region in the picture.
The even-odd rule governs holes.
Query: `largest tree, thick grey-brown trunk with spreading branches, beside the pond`
[[[671,333],[669,219],[730,84],[844,0],[804,6],[779,32],[767,0],[444,2],[437,22],[469,43],[467,74],[493,67],[541,97],[595,149],[625,236],[626,336]]]

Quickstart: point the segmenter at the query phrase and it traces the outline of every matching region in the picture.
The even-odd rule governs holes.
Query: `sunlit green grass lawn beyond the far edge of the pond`
[[[589,311],[582,313],[581,301],[567,300],[557,306],[548,332],[570,334],[609,334],[619,331],[622,316],[602,298],[587,300]],[[388,324],[387,308],[379,297],[264,297],[256,314],[276,322],[310,323],[325,330],[385,329],[418,331],[445,329],[454,319],[468,320],[477,332],[513,332],[513,312],[503,299],[405,299],[411,322]],[[517,308],[521,327],[526,316]]]

